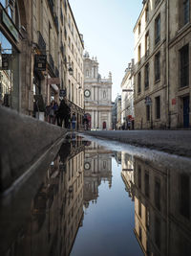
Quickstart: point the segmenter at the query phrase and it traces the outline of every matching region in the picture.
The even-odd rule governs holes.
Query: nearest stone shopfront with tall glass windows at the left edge
[[[28,2],[0,3],[0,102],[23,113],[28,113],[32,67],[32,1]]]

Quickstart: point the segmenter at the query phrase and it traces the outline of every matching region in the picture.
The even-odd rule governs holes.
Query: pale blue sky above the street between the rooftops
[[[113,74],[113,101],[120,94],[124,70],[134,58],[133,29],[142,0],[70,0],[85,49],[99,62],[99,74]]]

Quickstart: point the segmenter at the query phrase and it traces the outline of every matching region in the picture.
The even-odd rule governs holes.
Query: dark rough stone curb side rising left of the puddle
[[[66,130],[0,106],[0,191],[23,175]]]

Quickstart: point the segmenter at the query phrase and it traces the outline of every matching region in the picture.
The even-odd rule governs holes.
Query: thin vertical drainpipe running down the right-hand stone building
[[[167,94],[167,125],[171,127],[170,90],[169,90],[169,0],[166,0],[166,94]]]

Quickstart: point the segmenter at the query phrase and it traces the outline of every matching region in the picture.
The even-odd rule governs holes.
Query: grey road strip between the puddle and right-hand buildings
[[[191,130],[98,130],[86,134],[191,157]]]

